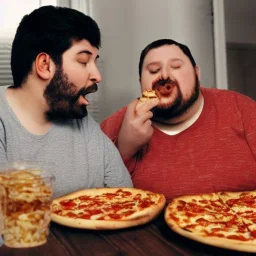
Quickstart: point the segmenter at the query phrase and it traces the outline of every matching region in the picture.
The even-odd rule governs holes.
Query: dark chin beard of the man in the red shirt
[[[179,117],[183,115],[195,103],[195,101],[199,96],[199,91],[200,91],[199,90],[200,82],[198,80],[197,75],[195,76],[196,76],[195,88],[190,98],[187,100],[183,100],[180,88],[178,87],[178,95],[174,103],[170,107],[159,108],[156,106],[151,110],[153,112],[152,120],[164,121],[164,120],[169,120],[175,117]]]

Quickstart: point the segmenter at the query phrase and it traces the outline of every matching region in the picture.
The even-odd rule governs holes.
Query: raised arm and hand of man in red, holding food
[[[103,132],[114,142],[130,173],[136,167],[136,153],[150,140],[153,128],[150,111],[158,99],[139,102],[134,100],[101,123]]]

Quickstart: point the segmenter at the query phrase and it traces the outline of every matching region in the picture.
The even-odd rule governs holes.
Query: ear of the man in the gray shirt
[[[51,65],[53,62],[51,61],[51,57],[49,54],[41,52],[37,55],[35,60],[35,69],[37,75],[44,80],[51,79],[53,74],[53,68]]]

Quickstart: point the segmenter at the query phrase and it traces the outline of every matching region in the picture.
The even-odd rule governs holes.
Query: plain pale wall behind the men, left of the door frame
[[[215,85],[211,0],[92,0],[102,32],[105,105],[112,114],[140,95],[139,55],[154,40],[187,44],[202,69],[202,85]]]

